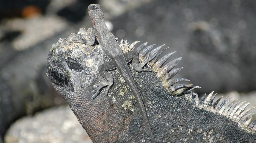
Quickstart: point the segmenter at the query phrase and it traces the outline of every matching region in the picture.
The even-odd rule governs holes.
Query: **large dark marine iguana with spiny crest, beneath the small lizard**
[[[108,97],[101,92],[97,98],[91,98],[93,85],[104,80],[98,67],[109,61],[97,40],[93,45],[84,44],[91,36],[92,28],[81,28],[53,44],[47,60],[47,75],[53,86],[94,142],[150,142],[137,100],[118,71],[109,71],[114,85]],[[256,141],[256,121],[251,122],[253,113],[248,113],[252,108],[245,109],[248,103],[229,103],[230,98],[213,102],[213,92],[199,100],[191,92],[198,86],[176,84],[189,80],[173,78],[183,68],[173,69],[181,58],[162,66],[175,52],[159,58],[167,48],[144,48],[146,44],[134,48],[138,42],[121,40],[118,44],[125,56],[139,49],[138,64],[154,71],[136,72],[129,64],[157,142]]]

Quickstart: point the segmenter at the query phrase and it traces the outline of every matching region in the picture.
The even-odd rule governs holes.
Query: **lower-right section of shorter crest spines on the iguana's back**
[[[191,101],[191,103],[194,106],[216,113],[216,114],[223,115],[231,119],[233,122],[238,123],[238,125],[245,131],[251,132],[253,134],[256,133],[256,125],[255,125],[256,121],[251,121],[254,113],[249,113],[249,111],[251,111],[255,107],[248,108],[245,110],[245,108],[250,103],[245,103],[245,101],[241,102],[241,101],[238,101],[238,99],[229,103],[232,97],[228,97],[228,96],[224,100],[222,100],[222,102],[220,102],[222,98],[221,97],[218,100],[216,100],[214,103],[212,103],[216,94],[214,94],[214,96],[212,95],[213,95],[213,91],[207,96],[205,93],[201,99],[201,102],[197,102],[199,101],[199,98],[196,93],[191,92],[189,94],[186,94],[185,96],[187,97],[187,99]]]

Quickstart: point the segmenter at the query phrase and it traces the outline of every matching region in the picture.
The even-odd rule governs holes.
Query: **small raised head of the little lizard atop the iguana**
[[[88,6],[88,13],[94,25],[98,22],[104,22],[103,12],[99,4],[90,4]]]

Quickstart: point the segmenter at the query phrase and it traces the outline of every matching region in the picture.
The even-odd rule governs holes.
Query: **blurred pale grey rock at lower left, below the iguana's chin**
[[[9,128],[6,143],[92,143],[69,106],[23,117]]]

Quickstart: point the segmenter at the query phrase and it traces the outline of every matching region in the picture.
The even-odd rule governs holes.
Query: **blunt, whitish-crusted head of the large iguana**
[[[50,78],[53,86],[65,99],[67,96],[73,96],[80,92],[88,91],[90,95],[93,85],[97,81],[94,77],[98,74],[98,66],[103,63],[101,56],[103,51],[97,48],[98,45],[91,46],[81,42],[73,42],[74,37],[81,38],[77,41],[83,41],[92,31],[80,29],[76,34],[71,33],[68,38],[59,39],[53,44],[47,59],[47,76]],[[88,98],[90,98],[88,96]]]

